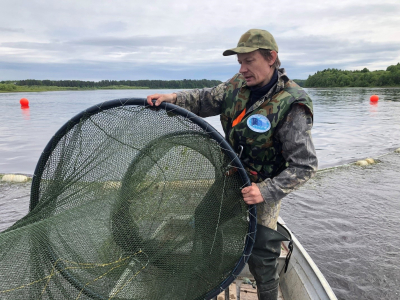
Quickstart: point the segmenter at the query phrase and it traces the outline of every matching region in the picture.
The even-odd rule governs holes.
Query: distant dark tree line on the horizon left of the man
[[[219,80],[101,80],[101,81],[82,81],[82,80],[36,80],[26,79],[15,81],[17,86],[57,86],[57,87],[76,87],[76,88],[106,88],[113,86],[140,87],[149,89],[193,89],[203,87],[213,87],[220,84]]]

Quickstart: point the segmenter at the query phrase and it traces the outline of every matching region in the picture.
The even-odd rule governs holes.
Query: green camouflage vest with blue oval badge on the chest
[[[282,155],[282,144],[275,137],[275,131],[289,113],[291,105],[301,103],[310,110],[311,114],[313,107],[307,93],[295,82],[287,79],[281,91],[265,99],[254,110],[246,112],[242,121],[232,127],[233,120],[246,107],[250,97],[250,89],[245,82],[241,74],[235,75],[229,81],[225,89],[220,117],[225,137],[233,149],[239,153],[241,146],[243,147],[241,161],[251,181],[261,182],[266,178],[273,178],[287,168],[287,162]],[[275,86],[272,87],[274,88]],[[254,131],[254,126],[252,126],[254,118],[258,118],[260,122],[268,123],[268,121],[259,115],[265,116],[270,123],[270,129],[261,133]],[[257,120],[255,122],[257,123]]]

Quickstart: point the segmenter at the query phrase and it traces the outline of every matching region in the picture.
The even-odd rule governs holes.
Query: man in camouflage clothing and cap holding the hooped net
[[[213,88],[147,97],[150,105],[167,101],[208,117],[220,115],[226,139],[252,181],[243,200],[257,205],[257,234],[248,264],[260,300],[277,299],[277,257],[285,237],[276,231],[281,199],[317,170],[311,139],[312,101],[284,69],[278,45],[265,30],[251,29],[236,48],[239,73]],[[156,100],[153,104],[152,100]]]

